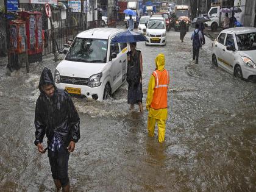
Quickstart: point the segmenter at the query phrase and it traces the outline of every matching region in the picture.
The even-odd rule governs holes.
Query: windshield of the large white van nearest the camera
[[[65,60],[105,63],[107,61],[107,40],[77,37],[69,48]]]

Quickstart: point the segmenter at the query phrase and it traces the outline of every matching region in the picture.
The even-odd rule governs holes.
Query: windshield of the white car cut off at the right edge
[[[236,42],[240,51],[256,50],[256,32],[236,35]]]

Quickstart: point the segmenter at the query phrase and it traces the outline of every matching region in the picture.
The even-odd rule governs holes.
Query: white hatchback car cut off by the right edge
[[[256,28],[222,30],[212,44],[213,65],[240,79],[256,80]]]

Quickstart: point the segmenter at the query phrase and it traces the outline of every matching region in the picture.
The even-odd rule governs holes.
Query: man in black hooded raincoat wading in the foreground
[[[80,118],[71,97],[55,87],[51,70],[44,68],[35,107],[35,145],[41,153],[48,149],[52,178],[57,190],[69,191],[68,159],[80,138]],[[43,148],[46,133],[48,147]]]

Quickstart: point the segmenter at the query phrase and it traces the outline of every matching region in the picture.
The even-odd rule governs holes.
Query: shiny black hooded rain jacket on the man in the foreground
[[[46,83],[54,85],[52,98],[48,98],[41,85]],[[35,145],[43,142],[44,135],[48,144],[55,135],[64,147],[70,141],[77,142],[80,138],[80,118],[69,94],[55,87],[51,70],[44,68],[41,73],[38,88],[41,92],[35,107]]]

